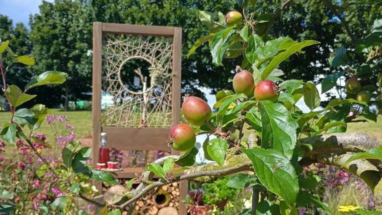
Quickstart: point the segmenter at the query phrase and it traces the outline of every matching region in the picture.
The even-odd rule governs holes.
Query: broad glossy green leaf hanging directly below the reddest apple
[[[296,144],[296,124],[290,112],[280,103],[259,101],[262,131],[261,147],[273,148],[290,158]]]

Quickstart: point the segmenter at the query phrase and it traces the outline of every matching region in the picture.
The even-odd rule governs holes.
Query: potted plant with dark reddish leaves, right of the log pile
[[[202,196],[204,191],[201,188],[188,191],[188,212],[190,215],[210,215],[212,214],[212,206],[203,204]]]

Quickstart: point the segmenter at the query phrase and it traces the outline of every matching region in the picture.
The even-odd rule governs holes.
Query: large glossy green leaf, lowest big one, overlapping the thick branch
[[[298,194],[297,175],[289,159],[273,149],[241,148],[252,161],[257,178],[269,191],[293,205]]]

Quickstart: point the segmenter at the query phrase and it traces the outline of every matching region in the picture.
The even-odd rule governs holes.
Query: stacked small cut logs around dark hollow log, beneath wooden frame
[[[119,182],[123,184],[121,179]],[[107,190],[103,184],[103,189]],[[154,194],[148,194],[135,202],[133,215],[178,215],[180,204],[180,191],[178,182],[173,182],[162,186]],[[122,215],[127,214],[127,210],[122,211]]]

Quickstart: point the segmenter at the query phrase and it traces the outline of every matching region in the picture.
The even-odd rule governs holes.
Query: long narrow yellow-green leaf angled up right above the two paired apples
[[[315,41],[315,40],[304,40],[302,42],[298,42],[296,44],[293,44],[291,46],[289,46],[289,48],[287,48],[285,51],[281,52],[281,53],[278,53],[270,62],[269,64],[266,66],[266,68],[264,69],[264,71],[262,72],[261,74],[261,79],[262,80],[265,80],[266,77],[268,77],[268,75],[270,74],[270,72],[278,65],[280,64],[282,61],[284,61],[286,58],[288,58],[290,55],[292,55],[293,53],[301,50],[303,47],[306,47],[306,46],[309,46],[309,45],[313,45],[313,44],[317,44],[319,43],[318,41]]]

